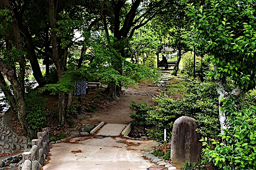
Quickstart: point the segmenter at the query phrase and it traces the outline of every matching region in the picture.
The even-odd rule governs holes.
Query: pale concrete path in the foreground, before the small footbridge
[[[43,169],[146,170],[155,166],[142,157],[144,149],[156,144],[153,140],[135,141],[120,137],[95,139],[94,137],[73,138],[67,143],[54,144],[50,149],[50,161]]]

